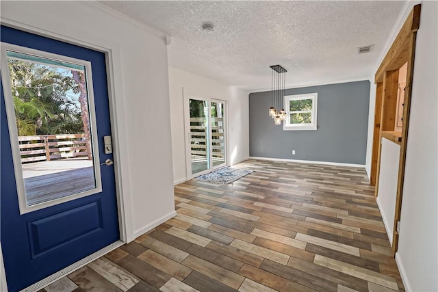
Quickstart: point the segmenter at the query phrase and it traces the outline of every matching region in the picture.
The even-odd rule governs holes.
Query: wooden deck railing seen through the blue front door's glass
[[[88,157],[85,134],[18,136],[21,163]]]

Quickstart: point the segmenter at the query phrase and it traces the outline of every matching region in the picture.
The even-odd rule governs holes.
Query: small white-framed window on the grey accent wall
[[[285,96],[285,110],[283,131],[317,129],[318,93]]]

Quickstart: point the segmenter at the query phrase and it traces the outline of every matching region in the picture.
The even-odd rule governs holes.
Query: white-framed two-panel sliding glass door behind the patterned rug
[[[226,103],[184,94],[188,178],[226,165]]]

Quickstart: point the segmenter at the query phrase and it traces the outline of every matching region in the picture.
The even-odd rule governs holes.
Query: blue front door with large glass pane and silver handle
[[[87,88],[83,91],[86,92],[86,90],[88,90],[88,93],[90,93],[90,88],[92,88],[94,92],[94,103],[88,103],[88,109],[95,112],[94,116],[89,115],[92,120],[89,122],[89,128],[91,128],[90,133],[94,133],[92,135],[94,148],[86,144],[86,140],[91,137],[91,134],[88,135],[89,137],[87,138],[86,134],[75,133],[74,135],[70,135],[69,133],[69,135],[73,137],[71,138],[68,135],[55,136],[47,134],[38,136],[37,133],[35,136],[26,140],[26,137],[30,137],[29,135],[20,135],[18,133],[18,136],[21,136],[19,139],[23,141],[26,140],[20,143],[27,143],[26,145],[23,144],[24,146],[20,144],[20,149],[18,150],[18,145],[14,144],[14,139],[11,138],[14,137],[13,135],[16,135],[16,133],[10,133],[11,125],[8,127],[8,122],[10,123],[11,118],[9,117],[8,119],[6,114],[6,105],[11,101],[5,102],[5,98],[11,98],[11,94],[10,92],[3,92],[3,89],[6,88],[5,83],[8,82],[9,89],[11,86],[14,88],[12,89],[12,96],[17,98],[25,96],[25,94],[29,94],[29,92],[34,94],[34,96],[42,96],[44,92],[50,93],[51,91],[51,94],[53,94],[53,90],[56,90],[56,86],[62,85],[62,83],[47,85],[42,83],[42,81],[40,84],[34,84],[29,81],[21,85],[15,79],[13,81],[5,80],[5,75],[3,75],[1,80],[0,239],[8,289],[9,291],[19,291],[51,274],[55,274],[57,271],[85,258],[97,250],[118,241],[120,235],[118,230],[114,165],[100,165],[107,159],[113,159],[110,146],[107,145],[110,139],[107,137],[104,143],[104,137],[111,135],[105,54],[5,26],[1,26],[1,42],[3,44],[14,44],[20,47],[89,62],[91,64],[92,83],[86,85]],[[10,53],[12,56],[11,59],[24,59],[25,61],[23,62],[29,62],[29,64],[38,63],[38,56],[20,54],[19,50],[18,53],[15,51]],[[43,63],[44,62],[49,64],[47,60],[43,61]],[[57,68],[53,70],[58,70],[58,73],[64,71],[73,72],[72,68],[76,66],[75,64],[69,65],[68,63],[62,62],[57,62],[56,64],[62,64],[62,66],[51,67]],[[37,68],[36,66],[34,67]],[[1,70],[8,70],[8,68],[3,66]],[[79,68],[75,72],[82,72],[82,75],[77,73],[76,76],[72,75],[72,77],[68,77],[66,80],[73,83],[75,78],[83,79],[87,74],[91,75],[89,69],[87,69],[88,71],[85,69],[81,70],[82,69]],[[10,83],[12,83],[12,85],[10,85]],[[66,81],[64,81],[64,83],[66,83]],[[73,90],[65,89],[64,91],[67,92],[68,96],[75,96],[75,94],[79,96],[80,88],[75,85]],[[72,104],[71,106],[74,107],[73,102]],[[79,103],[77,107],[79,108]],[[54,109],[50,110],[54,112]],[[49,109],[47,109],[47,111],[49,111]],[[77,112],[80,111],[81,109],[77,109]],[[47,114],[45,118],[49,117],[53,120],[55,116],[53,112]],[[10,116],[11,112],[8,111],[8,114]],[[43,114],[41,114],[41,116],[43,116]],[[42,129],[43,126],[41,124],[44,121],[41,122],[41,116],[36,118],[36,126],[32,125],[34,128],[31,128],[31,130],[35,130],[35,127]],[[77,116],[80,115],[77,114]],[[40,124],[38,124],[38,122]],[[78,127],[82,127],[80,118],[78,124]],[[45,143],[51,148],[49,149],[49,146],[47,146],[46,154],[38,156],[38,154],[34,153],[44,152],[44,147],[27,147],[43,145],[44,140],[36,141],[36,139],[43,139],[39,138],[43,136],[45,140],[49,141]],[[39,144],[36,143],[34,146],[31,146],[31,143],[34,142],[38,142]],[[107,148],[106,152],[108,154],[105,154],[105,147]],[[55,162],[64,163],[65,161],[71,161],[72,163],[89,163],[92,166],[81,168],[81,175],[85,175],[85,178],[77,179],[73,185],[67,185],[66,182],[70,181],[70,178],[75,177],[75,170],[55,172],[54,176],[50,171],[47,173],[44,172],[44,174],[41,175],[38,174],[39,176],[34,176],[32,171],[36,172],[36,170],[29,168],[31,169],[28,171],[29,178],[23,174],[20,176],[20,179],[25,182],[23,185],[25,186],[26,196],[31,193],[32,187],[36,189],[36,192],[33,198],[25,198],[26,204],[29,205],[28,210],[30,211],[23,212],[21,202],[18,202],[20,183],[17,183],[17,181],[21,181],[16,175],[17,163],[14,160],[16,156],[14,156],[15,158],[13,159],[14,151],[21,151],[21,153],[23,153],[23,156],[21,156],[21,161],[24,161],[22,165],[23,173],[25,168],[29,168],[29,165],[36,165],[32,164],[36,163],[34,160],[39,161],[41,159],[44,159],[44,161],[40,161],[41,163],[52,163],[53,165],[55,165]],[[47,157],[44,158],[44,155],[47,155]],[[64,157],[67,157],[67,159],[64,159]],[[95,157],[99,157],[101,163],[95,161]],[[20,159],[19,156],[18,159]],[[21,165],[18,166],[21,167]],[[87,186],[85,186],[85,188],[83,187],[86,181],[92,182],[92,185],[88,188]],[[42,185],[38,186],[38,184]],[[38,187],[35,187],[35,185]],[[49,194],[51,189],[57,188],[63,189],[62,191],[64,191],[64,193],[61,191],[56,196],[53,196],[53,198],[44,197]],[[63,200],[63,198],[68,198],[70,193],[75,193],[75,189],[76,193],[82,194],[79,198],[68,201]],[[94,191],[95,194],[92,194],[93,189],[97,190]],[[38,206],[45,206],[46,201],[55,202],[55,204],[52,204],[50,207],[38,209]]]

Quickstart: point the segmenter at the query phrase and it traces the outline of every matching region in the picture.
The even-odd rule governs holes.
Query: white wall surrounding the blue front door
[[[110,51],[126,240],[172,217],[166,36],[92,1],[1,1],[1,21]]]

